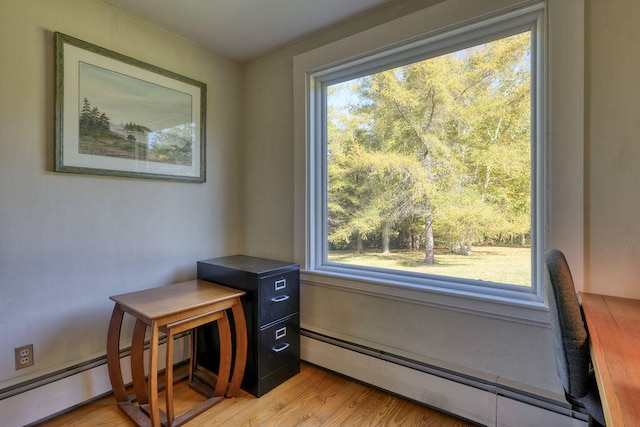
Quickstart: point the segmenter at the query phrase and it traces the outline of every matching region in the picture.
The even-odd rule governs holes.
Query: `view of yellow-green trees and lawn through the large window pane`
[[[531,37],[325,86],[329,262],[531,286]]]

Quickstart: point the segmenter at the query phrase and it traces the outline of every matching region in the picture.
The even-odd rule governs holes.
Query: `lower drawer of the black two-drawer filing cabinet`
[[[300,359],[300,316],[260,331],[260,376]]]

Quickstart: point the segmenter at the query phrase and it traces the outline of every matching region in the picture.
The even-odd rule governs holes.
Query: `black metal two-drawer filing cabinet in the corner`
[[[242,388],[260,397],[300,372],[300,267],[233,255],[198,261],[198,279],[246,291],[248,353]],[[201,328],[197,357],[217,370],[217,330]],[[208,363],[216,366],[207,366]]]

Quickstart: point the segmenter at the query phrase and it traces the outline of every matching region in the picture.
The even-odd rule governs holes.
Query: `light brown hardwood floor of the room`
[[[163,393],[160,399],[164,401]],[[186,381],[175,385],[177,414],[202,400]],[[110,395],[41,425],[114,427],[132,423]],[[474,424],[303,363],[298,375],[259,399],[241,391],[238,397],[222,401],[184,425],[466,427]]]

